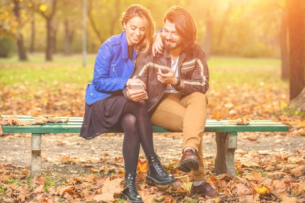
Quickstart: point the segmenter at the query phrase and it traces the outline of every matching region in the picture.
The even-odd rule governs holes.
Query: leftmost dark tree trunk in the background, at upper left
[[[27,60],[27,56],[25,53],[24,45],[23,45],[23,36],[20,31],[20,25],[21,25],[21,19],[20,19],[20,5],[19,1],[14,0],[14,14],[18,20],[18,31],[19,31],[19,37],[17,40],[17,46],[18,46],[18,55],[19,55],[19,60]]]

